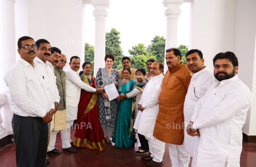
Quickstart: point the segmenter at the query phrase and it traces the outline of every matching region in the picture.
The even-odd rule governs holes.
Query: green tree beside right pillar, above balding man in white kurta
[[[165,37],[155,35],[151,40],[150,56],[155,56],[156,61],[164,63],[165,61]]]

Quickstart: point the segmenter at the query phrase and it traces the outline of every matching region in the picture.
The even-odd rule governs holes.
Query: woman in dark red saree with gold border
[[[84,62],[80,73],[81,80],[96,88],[95,78],[90,75],[91,63]],[[99,121],[97,93],[81,90],[78,104],[77,121],[74,135],[74,146],[102,151],[105,148],[105,136]]]

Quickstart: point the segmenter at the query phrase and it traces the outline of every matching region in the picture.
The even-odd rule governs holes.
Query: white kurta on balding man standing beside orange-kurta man
[[[154,139],[153,132],[155,128],[155,120],[159,110],[158,97],[163,79],[164,75],[160,74],[150,79],[147,83],[139,102],[145,110],[143,112],[138,112],[133,127],[138,130],[137,132],[139,134],[151,139]]]

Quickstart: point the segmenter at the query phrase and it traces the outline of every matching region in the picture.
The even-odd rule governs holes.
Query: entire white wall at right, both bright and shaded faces
[[[211,70],[217,53],[234,52],[239,62],[238,77],[256,99],[256,1],[193,0],[192,4],[189,49],[201,50]],[[256,100],[247,113],[243,132],[256,135]]]

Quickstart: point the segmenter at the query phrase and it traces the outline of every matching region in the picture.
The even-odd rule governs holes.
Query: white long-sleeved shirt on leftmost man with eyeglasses
[[[7,72],[4,80],[10,89],[10,109],[20,116],[44,117],[54,108],[38,65],[22,58]]]

